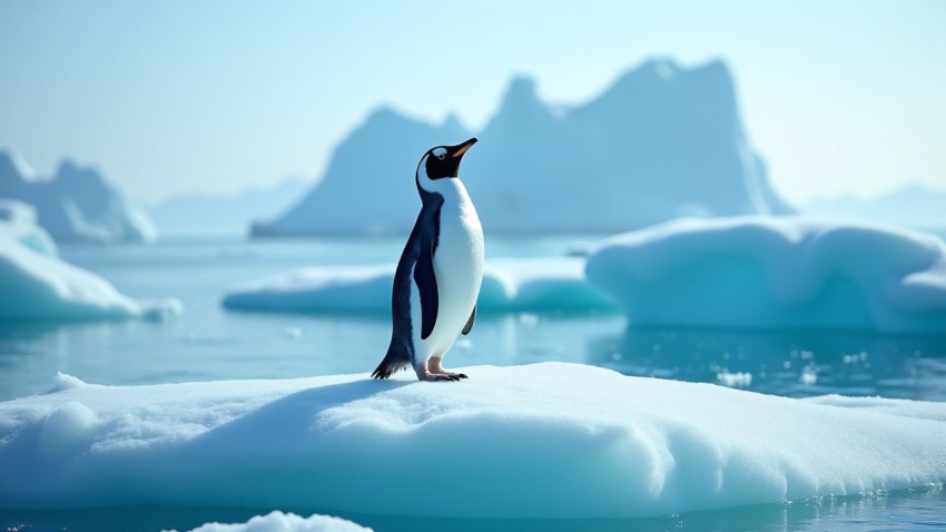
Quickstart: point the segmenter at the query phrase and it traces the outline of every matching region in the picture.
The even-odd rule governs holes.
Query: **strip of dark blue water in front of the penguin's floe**
[[[943,525],[942,486],[907,490],[870,496],[826,497],[786,504],[760,504],[729,510],[693,512],[642,520],[550,520],[550,519],[434,519],[393,518],[333,512],[326,509],[280,509],[299,515],[341,515],[385,532],[474,532],[474,531],[848,531],[926,530]],[[116,506],[85,510],[0,511],[0,528],[7,530],[191,530],[203,523],[246,522],[273,509],[217,506]]]

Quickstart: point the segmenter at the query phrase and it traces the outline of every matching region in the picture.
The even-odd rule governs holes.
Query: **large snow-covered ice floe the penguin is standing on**
[[[946,480],[944,403],[917,416],[906,402],[838,407],[578,364],[463,371],[461,383],[60,376],[56,392],[0,403],[0,506],[641,518]]]

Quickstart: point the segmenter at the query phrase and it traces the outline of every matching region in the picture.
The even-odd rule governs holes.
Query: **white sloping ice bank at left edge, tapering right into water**
[[[176,299],[136,302],[98,275],[0,230],[0,319],[160,318],[180,311]]]

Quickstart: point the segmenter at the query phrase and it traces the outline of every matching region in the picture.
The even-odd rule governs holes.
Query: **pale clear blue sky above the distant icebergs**
[[[513,76],[581,105],[649,58],[730,67],[795,205],[946,190],[946,2],[0,0],[0,149],[132,198],[319,177],[385,105],[474,131]]]

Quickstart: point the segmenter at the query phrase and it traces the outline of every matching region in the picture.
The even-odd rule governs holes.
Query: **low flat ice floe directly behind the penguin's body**
[[[391,312],[394,266],[313,267],[230,289],[227,308],[274,312]],[[613,301],[584,278],[573,257],[494,259],[486,264],[477,312],[607,311]]]

